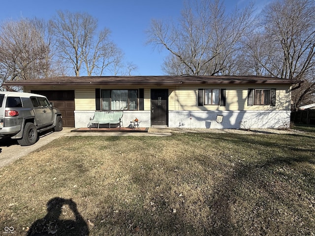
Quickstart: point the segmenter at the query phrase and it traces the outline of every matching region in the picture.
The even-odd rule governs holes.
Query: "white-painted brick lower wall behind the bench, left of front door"
[[[74,111],[75,128],[87,127],[90,118],[93,118],[95,111]],[[151,126],[150,111],[124,111],[123,127],[128,127],[130,121],[138,118],[140,127]]]

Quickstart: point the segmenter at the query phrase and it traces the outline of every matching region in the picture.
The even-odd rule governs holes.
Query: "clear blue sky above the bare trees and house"
[[[226,9],[239,8],[251,0],[225,0]],[[270,0],[253,0],[259,11]],[[24,18],[50,19],[57,10],[87,12],[98,19],[99,28],[111,30],[111,39],[138,66],[134,75],[163,75],[166,51],[145,45],[151,19],[179,18],[183,0],[1,0],[0,22]]]

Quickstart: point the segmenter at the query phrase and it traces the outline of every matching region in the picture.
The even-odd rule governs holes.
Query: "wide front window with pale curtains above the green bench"
[[[101,90],[101,110],[138,110],[138,90]]]

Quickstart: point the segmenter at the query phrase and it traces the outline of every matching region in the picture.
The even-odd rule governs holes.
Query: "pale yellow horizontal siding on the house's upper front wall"
[[[75,85],[74,85],[75,86]],[[70,86],[43,86],[40,90],[69,90]],[[75,87],[75,110],[92,111],[95,110],[95,88],[99,89],[144,89],[144,110],[151,110],[151,87],[148,86],[122,86],[113,87]],[[38,87],[26,87],[25,91],[37,90]],[[289,111],[290,92],[289,85],[196,85],[196,86],[161,86],[155,89],[168,89],[168,109],[170,111]],[[226,89],[226,104],[198,106],[198,89]],[[253,105],[247,106],[248,89],[277,89],[276,106]]]

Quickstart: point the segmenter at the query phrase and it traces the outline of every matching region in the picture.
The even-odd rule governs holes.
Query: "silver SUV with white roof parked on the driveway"
[[[63,129],[61,112],[45,96],[0,91],[0,138],[17,139],[21,146],[37,142],[38,133]]]

